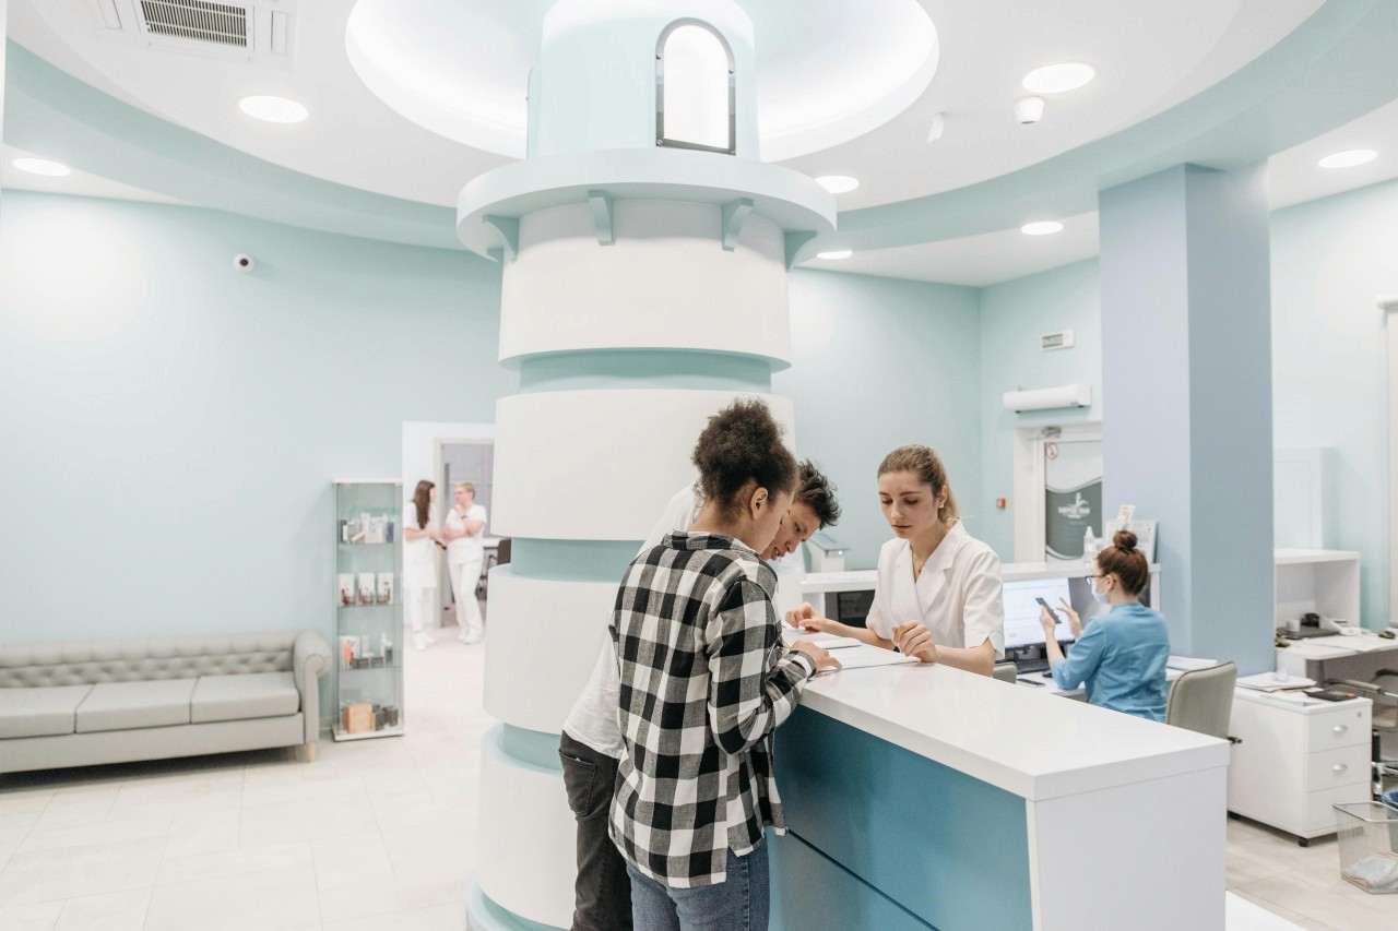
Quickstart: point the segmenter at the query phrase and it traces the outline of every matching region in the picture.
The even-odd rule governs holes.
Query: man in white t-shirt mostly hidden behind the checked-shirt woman
[[[647,534],[640,552],[660,544],[671,531],[689,530],[703,509],[703,491],[698,482],[675,492]],[[800,463],[795,498],[777,527],[776,537],[762,551],[762,559],[770,562],[795,552],[811,534],[833,524],[839,517],[840,505],[835,498],[835,486],[811,460]],[[622,752],[622,734],[617,723],[619,706],[617,650],[611,637],[604,636],[591,678],[563,723],[558,749],[569,807],[577,819],[577,882],[572,931],[632,928],[626,861],[607,829],[611,787]]]

